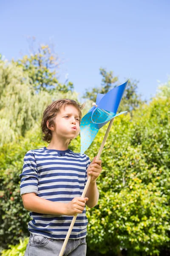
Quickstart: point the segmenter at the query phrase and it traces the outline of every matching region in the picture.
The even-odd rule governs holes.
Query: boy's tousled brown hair
[[[50,143],[52,139],[52,133],[51,130],[49,129],[52,125],[55,127],[55,118],[57,116],[57,113],[60,112],[61,108],[66,105],[73,105],[75,108],[77,108],[79,112],[79,123],[82,119],[82,113],[81,109],[84,108],[85,103],[82,105],[79,105],[76,101],[72,99],[58,99],[54,102],[52,102],[44,111],[43,116],[42,116],[42,122],[41,122],[41,130],[42,130],[42,140]],[[47,127],[47,121],[48,121],[48,127]],[[69,144],[71,143],[71,140]]]

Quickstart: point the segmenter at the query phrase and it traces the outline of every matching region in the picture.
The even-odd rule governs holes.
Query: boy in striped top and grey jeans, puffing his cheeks
[[[85,204],[94,207],[99,199],[96,179],[102,161],[90,161],[86,154],[68,149],[80,131],[81,109],[74,100],[59,99],[49,105],[42,117],[43,140],[48,147],[26,153],[20,174],[24,208],[32,218],[25,256],[58,256],[73,215],[78,214],[63,256],[86,255],[87,217]],[[82,198],[88,175],[91,183]]]

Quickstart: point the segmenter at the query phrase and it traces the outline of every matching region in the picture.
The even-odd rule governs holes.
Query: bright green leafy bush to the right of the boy
[[[169,107],[170,99],[157,99],[135,111],[133,120],[115,120],[101,156],[99,204],[88,212],[90,250],[145,256],[170,249]],[[88,149],[91,159],[100,143]]]

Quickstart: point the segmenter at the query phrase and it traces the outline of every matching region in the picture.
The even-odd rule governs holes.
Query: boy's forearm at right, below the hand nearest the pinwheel
[[[85,197],[88,197],[88,201],[86,202],[88,207],[93,208],[96,206],[99,200],[99,191],[96,181],[90,182]]]

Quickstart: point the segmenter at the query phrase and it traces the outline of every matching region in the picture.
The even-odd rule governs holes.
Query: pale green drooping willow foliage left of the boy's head
[[[40,123],[44,109],[52,101],[70,97],[77,100],[77,96],[70,90],[36,93],[22,67],[0,60],[0,145],[25,136],[35,123]]]

